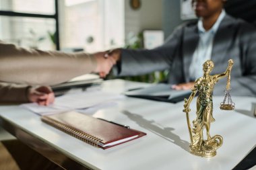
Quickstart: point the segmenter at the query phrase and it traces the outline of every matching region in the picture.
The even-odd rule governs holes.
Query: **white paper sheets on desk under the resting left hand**
[[[56,97],[51,105],[38,105],[37,103],[26,103],[21,106],[40,115],[54,114],[69,110],[97,110],[113,105],[116,99],[122,99],[124,95],[106,93],[102,91],[84,91]]]

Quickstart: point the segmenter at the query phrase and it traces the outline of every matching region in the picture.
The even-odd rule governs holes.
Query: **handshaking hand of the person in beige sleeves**
[[[116,61],[113,57],[106,56],[107,52],[97,52],[94,55],[96,58],[97,67],[94,72],[99,73],[100,77],[106,77]]]

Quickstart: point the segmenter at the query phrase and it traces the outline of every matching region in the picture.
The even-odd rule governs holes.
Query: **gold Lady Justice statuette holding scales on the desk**
[[[191,143],[189,145],[190,152],[193,155],[198,155],[200,157],[214,157],[216,155],[216,150],[222,146],[223,138],[220,135],[210,136],[210,124],[214,122],[213,103],[212,103],[212,92],[214,90],[214,85],[219,79],[228,76],[228,81],[226,83],[226,91],[224,101],[221,103],[220,109],[222,110],[233,110],[234,103],[230,97],[230,72],[233,66],[233,60],[228,60],[228,68],[224,73],[218,75],[210,75],[212,69],[214,69],[214,62],[212,60],[207,60],[203,63],[203,77],[199,77],[195,81],[193,89],[191,89],[191,95],[189,99],[185,99],[184,110],[187,116],[187,126],[189,128],[189,137]],[[191,109],[189,105],[195,94],[198,91],[197,97],[197,112],[196,118],[193,120],[193,128],[191,128],[189,122],[189,112]],[[228,101],[228,103],[225,103]],[[203,140],[203,129],[205,128],[207,139]]]

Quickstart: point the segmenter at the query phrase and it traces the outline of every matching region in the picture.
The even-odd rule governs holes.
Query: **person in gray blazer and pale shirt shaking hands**
[[[168,83],[174,89],[191,89],[203,75],[201,65],[212,59],[216,69],[225,71],[226,62],[234,60],[231,74],[232,95],[256,96],[256,29],[242,19],[235,19],[223,9],[226,0],[193,0],[198,22],[179,26],[166,42],[152,50],[115,49],[106,52],[117,61],[117,75],[142,75],[169,70]],[[223,95],[221,80],[214,94]]]

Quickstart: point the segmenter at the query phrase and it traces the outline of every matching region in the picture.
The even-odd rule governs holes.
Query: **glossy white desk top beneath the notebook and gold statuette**
[[[103,89],[120,92],[143,84],[106,81]],[[147,135],[107,150],[94,148],[48,124],[17,105],[1,106],[0,116],[40,138],[58,151],[92,169],[232,169],[256,144],[256,119],[252,103],[255,97],[232,97],[236,110],[219,109],[224,97],[214,97],[214,118],[210,134],[224,138],[216,157],[205,159],[189,153],[189,131],[183,102],[164,103],[125,97],[112,108],[93,116],[126,124]],[[191,103],[191,121],[195,118],[195,99]]]

